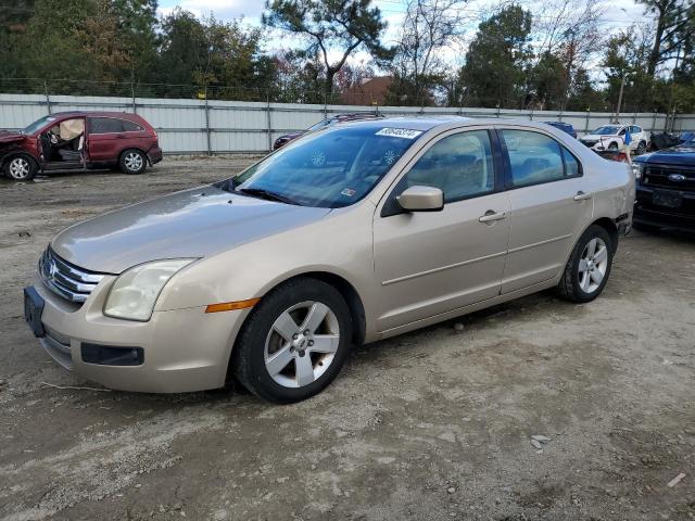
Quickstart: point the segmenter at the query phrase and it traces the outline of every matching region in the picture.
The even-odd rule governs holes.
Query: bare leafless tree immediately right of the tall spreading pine
[[[429,92],[446,77],[441,50],[460,36],[467,0],[408,0],[392,65],[394,81],[388,100],[426,104]]]

